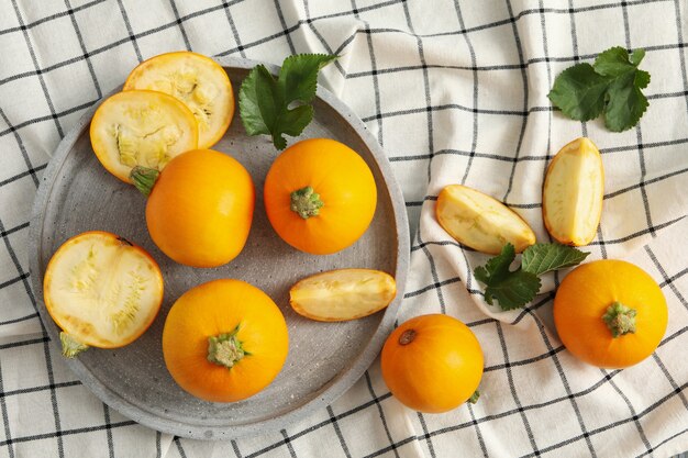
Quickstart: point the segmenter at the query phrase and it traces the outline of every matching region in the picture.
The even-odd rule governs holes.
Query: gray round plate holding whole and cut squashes
[[[230,76],[235,96],[248,69],[258,64],[236,58],[219,63]],[[195,269],[171,261],[155,246],[146,230],[143,196],[98,163],[88,134],[97,107],[84,114],[57,147],[34,203],[30,264],[41,319],[54,345],[59,345],[59,329],[42,300],[43,275],[55,250],[85,231],[109,231],[147,249],[163,270],[165,300],[151,328],[136,342],[114,350],[93,348],[67,360],[84,384],[136,422],[199,439],[229,439],[278,429],[346,391],[373,362],[391,331],[409,261],[403,199],[385,154],[363,122],[319,87],[315,119],[299,139],[334,138],[358,152],[375,176],[378,206],[370,227],[356,244],[334,255],[312,256],[284,243],[267,221],[263,182],[278,153],[266,136],[248,137],[236,113],[229,132],[213,149],[236,158],[254,179],[256,208],[251,234],[232,262]],[[288,291],[297,280],[346,267],[390,272],[397,280],[397,298],[384,312],[342,323],[310,321],[291,310]],[[160,338],[169,308],[188,289],[217,278],[238,278],[267,292],[281,309],[289,328],[289,356],[279,376],[264,391],[236,403],[211,403],[191,396],[175,383],[163,360]]]

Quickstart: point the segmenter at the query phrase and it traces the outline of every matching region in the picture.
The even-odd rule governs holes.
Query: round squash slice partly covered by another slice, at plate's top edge
[[[198,122],[198,147],[210,148],[234,115],[234,92],[226,71],[213,59],[188,51],[152,57],[126,78],[124,90],[147,89],[180,100]]]

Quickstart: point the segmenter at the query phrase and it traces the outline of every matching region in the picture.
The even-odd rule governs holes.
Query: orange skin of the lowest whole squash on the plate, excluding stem
[[[236,332],[247,353],[232,368],[208,360],[208,338]],[[163,329],[163,356],[175,381],[211,402],[236,402],[265,389],[289,349],[287,324],[275,302],[241,280],[195,287],[173,305]]]

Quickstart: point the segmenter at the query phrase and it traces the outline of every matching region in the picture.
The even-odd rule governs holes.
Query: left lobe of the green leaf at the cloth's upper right
[[[556,77],[547,97],[568,118],[590,121],[604,109],[608,85],[609,78],[596,74],[590,64],[578,64]]]

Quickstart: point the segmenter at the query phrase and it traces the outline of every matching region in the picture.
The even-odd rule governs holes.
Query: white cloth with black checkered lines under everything
[[[688,8],[685,0],[0,0],[0,457],[669,456],[688,449]],[[637,127],[610,133],[552,109],[556,75],[615,45],[652,82]],[[403,407],[374,364],[331,406],[226,443],[160,434],[103,405],[66,369],[35,310],[30,208],[51,154],[142,59],[174,51],[281,63],[336,53],[322,82],[384,146],[412,224],[399,322],[442,312],[485,351],[482,396],[440,415]],[[545,279],[501,313],[433,217],[448,183],[517,210],[547,241],[540,190],[567,142],[600,147],[607,183],[590,258],[647,270],[669,304],[656,353],[601,370],[556,336]],[[75,217],[79,217],[75,215]],[[548,291],[548,292],[547,292]]]

